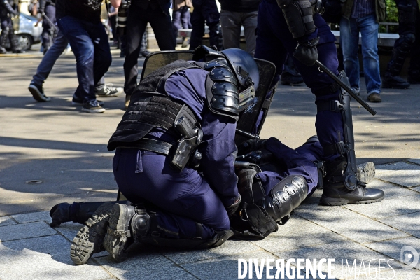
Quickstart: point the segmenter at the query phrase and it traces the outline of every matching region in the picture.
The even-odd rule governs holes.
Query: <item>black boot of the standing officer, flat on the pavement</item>
[[[321,196],[321,204],[338,206],[346,204],[367,204],[380,202],[384,198],[384,192],[379,189],[366,188],[365,184],[358,181],[355,190],[349,190],[344,186],[344,170],[347,160],[344,157],[337,158],[334,162],[326,165],[327,176],[324,179],[324,189]]]

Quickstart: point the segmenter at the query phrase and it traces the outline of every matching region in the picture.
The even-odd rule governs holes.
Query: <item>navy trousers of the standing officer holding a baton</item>
[[[314,23],[318,28],[320,41],[317,45],[318,60],[333,73],[338,73],[337,48],[335,37],[330,27],[318,13],[314,15]],[[293,58],[296,68],[302,74],[304,83],[316,95],[315,103],[326,103],[339,99],[339,92],[328,92],[325,88],[334,83],[326,73],[318,70],[318,66],[305,66],[293,57],[297,41],[293,39],[288,29],[281,9],[274,0],[262,0],[258,10],[258,37],[255,58],[266,59],[276,65],[277,74],[281,73],[286,55]],[[325,91],[323,91],[325,89]],[[316,114],[316,133],[321,146],[325,149],[339,141],[343,141],[342,113],[335,111],[321,111]],[[332,155],[327,160],[337,158]]]

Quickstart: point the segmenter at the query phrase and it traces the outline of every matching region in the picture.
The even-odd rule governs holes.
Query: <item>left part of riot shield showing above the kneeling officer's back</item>
[[[166,66],[176,60],[193,60],[192,50],[165,50],[161,52],[153,52],[146,57],[141,71],[140,80],[155,70]]]

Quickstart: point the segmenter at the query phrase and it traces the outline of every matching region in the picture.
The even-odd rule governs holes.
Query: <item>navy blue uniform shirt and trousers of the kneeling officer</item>
[[[214,230],[228,230],[230,222],[224,205],[238,196],[235,160],[235,129],[232,118],[211,113],[206,104],[208,72],[186,69],[172,74],[165,90],[171,99],[188,104],[202,125],[204,138],[199,147],[203,175],[186,167],[172,169],[169,157],[134,148],[117,148],[113,171],[121,193],[131,202],[148,200],[158,206],[158,224],[179,237],[196,237],[195,221],[202,223],[202,239]],[[174,141],[165,130],[155,128],[148,138]],[[167,236],[176,237],[176,236]]]

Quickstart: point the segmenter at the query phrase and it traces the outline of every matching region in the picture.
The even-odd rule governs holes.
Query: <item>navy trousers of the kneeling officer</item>
[[[161,226],[186,237],[195,237],[195,222],[202,223],[202,238],[214,230],[228,230],[230,222],[221,199],[209,183],[190,168],[178,172],[166,155],[134,148],[118,148],[113,172],[121,193],[130,202],[144,200],[162,209]]]

